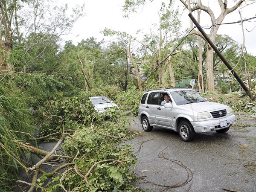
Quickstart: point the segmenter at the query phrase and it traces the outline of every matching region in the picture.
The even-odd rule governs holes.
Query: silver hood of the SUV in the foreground
[[[191,104],[182,105],[182,107],[188,108],[188,109],[193,109],[194,111],[197,111],[198,113],[204,112],[204,111],[218,111],[221,109],[228,108],[227,105],[223,105],[223,104],[215,103],[215,102],[191,103]]]

